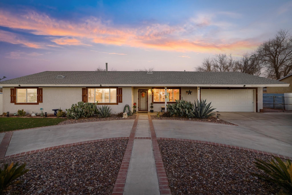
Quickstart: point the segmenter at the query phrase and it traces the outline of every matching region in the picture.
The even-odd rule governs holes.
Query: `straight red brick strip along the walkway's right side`
[[[151,134],[152,147],[153,147],[153,152],[154,152],[154,159],[155,159],[160,195],[171,195],[171,190],[170,190],[168,178],[164,169],[162,156],[159,150],[158,141],[157,141],[156,133],[154,130],[154,125],[151,119],[151,115],[148,115],[148,121],[149,121],[149,127],[150,127],[150,134]]]

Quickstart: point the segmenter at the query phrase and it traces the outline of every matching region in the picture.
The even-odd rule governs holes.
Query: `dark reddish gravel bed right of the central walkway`
[[[277,194],[280,188],[251,175],[254,158],[271,156],[187,141],[158,140],[172,194]]]

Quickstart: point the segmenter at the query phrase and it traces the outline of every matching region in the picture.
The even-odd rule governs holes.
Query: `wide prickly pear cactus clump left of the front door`
[[[79,119],[80,117],[90,117],[93,114],[98,113],[98,108],[96,103],[84,103],[83,101],[72,104],[71,108],[66,109],[67,118]]]

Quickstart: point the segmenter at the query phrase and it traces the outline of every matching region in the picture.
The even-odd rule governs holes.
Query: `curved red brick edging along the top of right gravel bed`
[[[160,139],[160,140],[173,140],[173,141],[189,141],[189,142],[195,142],[195,143],[201,143],[201,144],[210,144],[210,145],[214,145],[214,146],[223,146],[223,147],[227,147],[227,148],[233,148],[233,149],[238,149],[238,150],[255,152],[255,153],[259,153],[259,154],[265,154],[265,155],[268,155],[268,156],[276,156],[276,157],[279,157],[279,158],[292,160],[292,157],[283,156],[283,155],[280,155],[280,154],[264,152],[264,151],[261,151],[261,150],[244,148],[244,147],[233,146],[233,145],[228,145],[228,144],[219,144],[219,143],[211,142],[211,141],[200,141],[200,140],[194,140],[194,139],[180,139],[180,138],[167,138],[167,137],[157,137],[157,139]]]

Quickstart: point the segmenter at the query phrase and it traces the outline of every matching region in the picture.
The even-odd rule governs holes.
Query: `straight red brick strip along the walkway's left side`
[[[133,144],[134,144],[134,139],[135,139],[135,133],[137,130],[137,125],[138,125],[138,118],[139,118],[139,115],[136,115],[132,130],[130,133],[130,137],[128,140],[128,144],[126,147],[126,151],[125,151],[123,160],[121,162],[121,167],[119,169],[117,179],[114,184],[114,189],[112,190],[112,195],[123,195],[129,163],[130,163],[130,158],[131,158],[132,149],[133,149]]]

